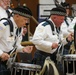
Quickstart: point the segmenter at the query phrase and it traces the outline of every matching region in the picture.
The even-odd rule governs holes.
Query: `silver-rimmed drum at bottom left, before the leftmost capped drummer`
[[[35,75],[40,70],[40,65],[15,62],[12,65],[11,75]]]

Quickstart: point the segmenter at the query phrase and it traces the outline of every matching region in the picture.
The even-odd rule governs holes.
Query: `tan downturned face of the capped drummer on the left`
[[[26,23],[29,21],[29,18],[20,15],[17,15],[16,18],[16,24],[18,25],[18,27],[26,26]]]

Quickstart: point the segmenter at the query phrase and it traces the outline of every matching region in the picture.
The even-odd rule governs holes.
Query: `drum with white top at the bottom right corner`
[[[76,75],[76,55],[68,54],[63,56],[64,75]]]

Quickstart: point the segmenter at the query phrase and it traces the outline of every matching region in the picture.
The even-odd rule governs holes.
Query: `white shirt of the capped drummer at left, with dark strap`
[[[10,27],[9,25],[4,25],[3,22],[0,22],[0,55],[3,52],[9,52],[10,50],[13,49],[13,45],[15,43],[15,37],[16,35],[16,29],[18,28],[16,23],[14,22],[13,18],[11,17],[12,22],[13,22],[13,36],[10,36]],[[23,47],[21,46],[21,40],[22,40],[22,33],[20,33],[17,36],[17,49],[20,50]]]

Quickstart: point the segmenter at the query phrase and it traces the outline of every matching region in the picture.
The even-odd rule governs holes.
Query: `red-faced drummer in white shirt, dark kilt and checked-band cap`
[[[32,39],[37,49],[32,62],[41,66],[43,66],[47,56],[50,56],[57,63],[56,51],[59,43],[66,44],[72,40],[71,36],[64,39],[60,29],[66,16],[66,10],[62,7],[56,7],[50,12],[48,21],[43,21],[37,26]]]

